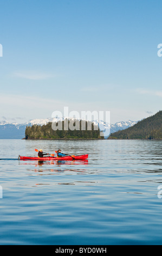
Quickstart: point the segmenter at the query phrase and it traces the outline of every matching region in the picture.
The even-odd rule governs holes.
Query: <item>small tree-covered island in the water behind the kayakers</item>
[[[90,130],[91,129],[91,130]],[[27,126],[29,139],[100,139],[98,125],[83,120],[64,120],[46,125]]]

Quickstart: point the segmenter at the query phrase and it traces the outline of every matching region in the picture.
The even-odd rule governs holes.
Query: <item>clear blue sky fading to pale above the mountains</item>
[[[1,0],[0,120],[110,111],[111,123],[161,110],[162,2]]]

